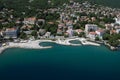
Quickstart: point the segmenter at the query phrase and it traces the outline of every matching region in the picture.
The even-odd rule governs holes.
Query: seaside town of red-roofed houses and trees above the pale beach
[[[51,0],[48,3],[52,4]],[[13,9],[3,8],[0,11],[0,46],[9,42],[77,37],[104,43],[111,49],[120,46],[120,9],[70,0],[60,7],[36,10],[35,16],[16,17]]]

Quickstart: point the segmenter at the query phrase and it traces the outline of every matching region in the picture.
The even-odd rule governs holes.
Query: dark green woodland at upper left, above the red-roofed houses
[[[40,10],[57,7],[64,2],[68,0],[51,0],[51,4],[48,0],[33,0],[32,2],[30,0],[0,0],[0,10],[2,8],[13,9],[14,17],[31,17],[36,16]]]

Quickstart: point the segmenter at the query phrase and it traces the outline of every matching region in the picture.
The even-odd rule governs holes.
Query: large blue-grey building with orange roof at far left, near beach
[[[4,31],[4,38],[9,39],[9,38],[17,38],[19,34],[19,28],[7,28]]]

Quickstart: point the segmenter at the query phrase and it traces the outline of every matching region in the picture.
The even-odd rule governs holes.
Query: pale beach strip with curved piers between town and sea
[[[81,42],[81,44],[70,43],[70,41],[72,41],[72,40],[79,40]],[[56,44],[66,45],[66,46],[81,46],[81,45],[100,46],[100,44],[89,42],[85,38],[65,39],[64,41],[58,39],[56,41],[35,40],[35,41],[28,41],[28,42],[25,42],[25,43],[9,42],[9,45],[0,47],[0,54],[2,54],[2,52],[5,51],[8,48],[24,48],[24,49],[49,49],[49,48],[52,48],[52,46],[43,47],[43,46],[39,45],[41,42],[53,42],[53,43],[56,43]]]

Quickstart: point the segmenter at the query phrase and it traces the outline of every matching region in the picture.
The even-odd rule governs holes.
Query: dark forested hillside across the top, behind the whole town
[[[47,9],[52,7],[58,7],[63,3],[68,3],[69,0],[0,0],[0,10],[2,8],[14,9],[17,16],[21,15],[21,12],[25,12],[26,16],[32,16],[36,14],[37,9]],[[120,8],[120,0],[74,0],[78,2],[90,1],[91,3],[97,3],[104,6],[113,8]]]

